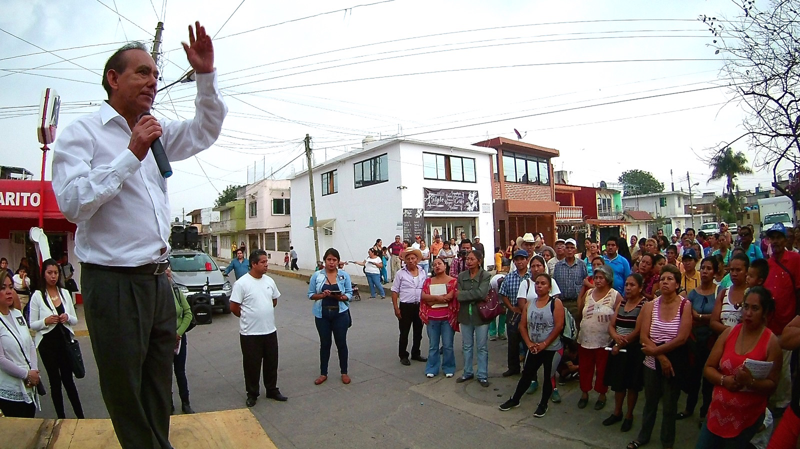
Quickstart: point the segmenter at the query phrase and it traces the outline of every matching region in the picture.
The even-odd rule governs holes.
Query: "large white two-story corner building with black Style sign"
[[[376,239],[388,246],[395,235],[414,241],[422,234],[458,239],[476,235],[494,265],[492,148],[449,146],[408,138],[369,142],[363,148],[314,167],[320,258],[334,247],[342,260],[361,261]],[[298,265],[314,268],[314,233],[308,171],[291,179],[292,245]],[[405,212],[405,213],[404,213]],[[361,267],[346,270],[362,275]]]

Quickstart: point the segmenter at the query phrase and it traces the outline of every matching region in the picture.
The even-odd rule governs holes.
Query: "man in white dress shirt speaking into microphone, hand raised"
[[[103,69],[108,100],[66,126],[54,146],[53,188],[62,213],[78,225],[75,255],[82,262],[86,326],[103,401],[123,449],[171,447],[177,337],[165,274],[170,202],[150,146],[160,138],[171,161],[189,158],[216,141],[227,113],[214,46],[199,22],[194,30],[189,26],[183,48],[197,73],[193,119],[159,123],[146,114],[158,68],[146,47],[132,42]]]

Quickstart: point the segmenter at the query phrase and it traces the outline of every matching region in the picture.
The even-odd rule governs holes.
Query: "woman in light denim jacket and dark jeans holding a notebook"
[[[336,342],[339,354],[339,368],[342,383],[350,383],[347,375],[347,329],[353,324],[350,318],[350,299],[353,287],[350,275],[339,269],[339,251],[328,248],[322,258],[325,268],[314,272],[308,285],[308,299],[314,301],[314,323],[319,333],[319,377],[314,384],[319,385],[328,379],[331,335]]]

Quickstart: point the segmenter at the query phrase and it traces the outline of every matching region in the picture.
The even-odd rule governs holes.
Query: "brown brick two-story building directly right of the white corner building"
[[[494,238],[505,249],[526,232],[542,233],[546,242],[556,239],[553,166],[558,150],[496,137],[474,144],[494,148],[491,158]]]

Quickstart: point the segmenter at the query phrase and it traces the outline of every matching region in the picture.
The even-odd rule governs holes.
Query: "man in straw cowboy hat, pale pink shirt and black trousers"
[[[419,351],[420,342],[422,342],[419,301],[422,299],[422,283],[425,282],[427,274],[417,267],[417,263],[422,259],[422,251],[416,248],[406,248],[401,256],[406,265],[394,275],[392,304],[394,305],[394,316],[398,318],[398,327],[400,328],[398,357],[400,357],[400,363],[408,366],[411,364],[408,352],[408,332],[411,327],[414,327],[411,360],[428,361],[426,357],[422,357]]]

